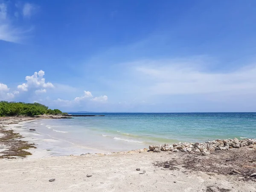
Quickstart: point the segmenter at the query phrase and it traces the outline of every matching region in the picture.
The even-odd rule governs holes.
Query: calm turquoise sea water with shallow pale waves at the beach
[[[95,114],[105,116],[38,119],[24,127],[35,128],[46,141],[56,141],[44,147],[55,147],[55,151],[58,148],[62,154],[127,151],[148,148],[151,144],[234,137],[256,138],[256,113]]]

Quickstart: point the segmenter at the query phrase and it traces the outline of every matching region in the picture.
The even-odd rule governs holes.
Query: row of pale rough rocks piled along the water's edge
[[[174,151],[174,152],[189,152],[189,153],[202,153],[204,155],[213,151],[227,151],[230,148],[240,148],[249,145],[249,148],[256,148],[256,139],[244,139],[239,140],[236,137],[234,139],[227,140],[213,140],[205,143],[173,143],[172,145],[149,145],[149,151],[161,152],[161,151]]]

